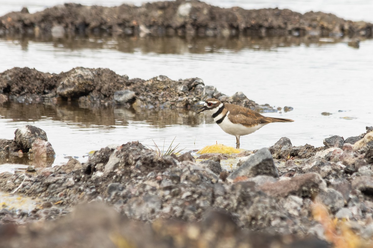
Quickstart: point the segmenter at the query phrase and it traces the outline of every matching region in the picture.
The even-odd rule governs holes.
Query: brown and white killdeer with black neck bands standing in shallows
[[[236,148],[239,148],[239,138],[257,131],[271,122],[294,122],[283,118],[266,117],[251,109],[236,104],[222,103],[214,98],[207,99],[203,107],[196,113],[207,111],[224,132],[236,136]]]

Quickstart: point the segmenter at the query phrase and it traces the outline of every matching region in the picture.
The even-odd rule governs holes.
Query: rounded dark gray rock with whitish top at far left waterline
[[[28,152],[36,139],[48,141],[47,133],[31,125],[23,126],[15,131],[14,140],[21,147],[23,152]]]

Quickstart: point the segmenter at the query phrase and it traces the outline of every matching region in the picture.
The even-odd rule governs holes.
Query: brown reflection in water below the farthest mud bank
[[[284,36],[284,37],[246,37],[216,39],[212,37],[185,39],[181,37],[128,37],[112,38],[102,36],[78,36],[69,38],[35,38],[7,36],[6,40],[18,41],[22,49],[28,48],[28,42],[52,42],[56,48],[77,49],[115,49],[120,52],[134,53],[141,51],[144,54],[206,54],[219,52],[222,49],[241,51],[242,49],[270,50],[279,46],[299,46],[301,44],[323,45],[341,42],[340,37],[320,40],[315,36]]]

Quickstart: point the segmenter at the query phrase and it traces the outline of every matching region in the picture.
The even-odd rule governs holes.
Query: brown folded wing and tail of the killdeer
[[[272,118],[261,115],[254,110],[241,107],[235,104],[225,104],[228,108],[230,115],[228,115],[229,120],[233,123],[241,123],[245,126],[253,126],[261,123],[270,122],[292,122],[294,120],[282,119],[282,118]]]

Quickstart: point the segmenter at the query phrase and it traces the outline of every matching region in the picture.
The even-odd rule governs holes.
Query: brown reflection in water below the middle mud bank
[[[212,123],[210,116],[195,115],[193,110],[180,109],[127,109],[116,106],[82,106],[78,103],[60,102],[44,104],[4,103],[0,105],[3,119],[14,122],[35,122],[54,120],[66,125],[77,125],[81,128],[100,126],[113,128],[115,125],[127,126],[133,122],[145,122],[154,128],[169,125],[187,125],[195,127],[203,123]],[[2,137],[0,137],[2,138]]]

